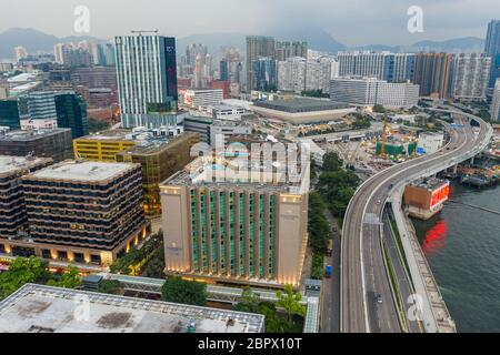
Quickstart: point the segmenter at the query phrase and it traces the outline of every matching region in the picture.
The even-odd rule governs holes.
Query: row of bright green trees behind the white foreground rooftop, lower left
[[[68,266],[50,273],[48,264],[36,256],[14,258],[7,272],[0,274],[0,300],[8,297],[26,283],[47,284],[64,288],[76,288],[81,277],[76,266]]]

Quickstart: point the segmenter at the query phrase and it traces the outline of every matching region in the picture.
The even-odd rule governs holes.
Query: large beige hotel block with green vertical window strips
[[[269,183],[241,180],[231,166],[200,158],[162,183],[166,272],[212,282],[299,286],[309,164],[298,172],[298,183],[276,176]],[[223,181],[211,179],[214,171]]]

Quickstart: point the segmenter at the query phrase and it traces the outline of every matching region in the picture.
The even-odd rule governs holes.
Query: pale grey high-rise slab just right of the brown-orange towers
[[[486,101],[491,58],[486,54],[458,54],[453,63],[452,97],[456,100]]]

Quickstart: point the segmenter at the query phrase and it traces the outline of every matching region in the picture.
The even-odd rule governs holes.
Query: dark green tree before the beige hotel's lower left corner
[[[169,277],[161,287],[161,300],[166,302],[204,306],[207,304],[207,284]]]

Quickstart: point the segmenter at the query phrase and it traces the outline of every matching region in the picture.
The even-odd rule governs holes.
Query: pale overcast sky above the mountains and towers
[[[318,26],[348,45],[410,44],[484,37],[487,22],[500,18],[500,0],[2,0],[0,31],[17,27],[58,37],[79,34],[73,10],[80,4],[90,10],[89,34],[98,38],[154,28],[178,38],[272,36],[272,28]],[[422,33],[407,30],[410,6],[423,10]]]

